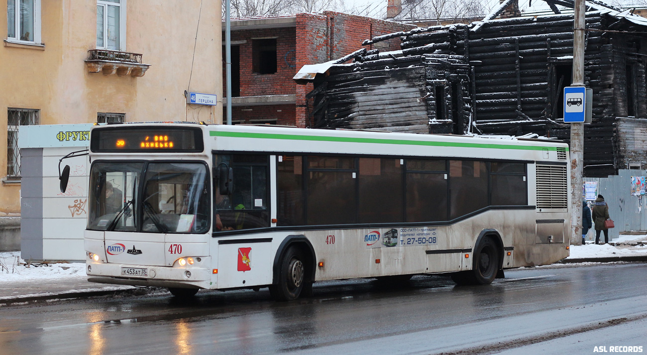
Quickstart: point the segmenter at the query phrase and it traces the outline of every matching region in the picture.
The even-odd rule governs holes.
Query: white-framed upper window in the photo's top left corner
[[[7,0],[7,40],[40,43],[40,0]]]

